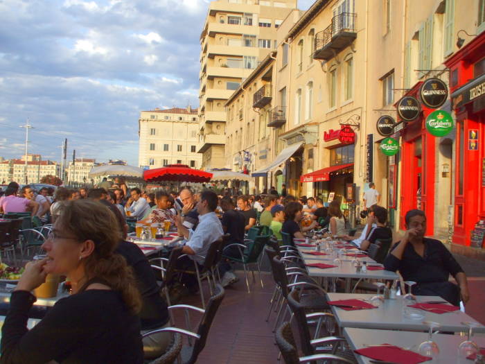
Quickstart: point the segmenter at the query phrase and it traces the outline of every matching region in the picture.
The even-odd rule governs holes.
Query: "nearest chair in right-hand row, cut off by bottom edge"
[[[350,361],[347,358],[333,354],[315,354],[310,356],[302,356],[299,358],[290,322],[283,322],[283,324],[281,324],[281,326],[276,330],[274,338],[276,339],[276,345],[278,345],[280,349],[281,356],[283,356],[285,364],[299,364],[308,362],[315,363],[318,360],[322,360],[324,363],[355,363],[355,361]]]

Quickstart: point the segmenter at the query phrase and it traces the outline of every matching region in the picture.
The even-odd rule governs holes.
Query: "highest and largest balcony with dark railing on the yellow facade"
[[[348,47],[357,37],[355,28],[356,15],[342,12],[332,18],[332,24],[315,35],[315,60],[330,60],[337,53]]]

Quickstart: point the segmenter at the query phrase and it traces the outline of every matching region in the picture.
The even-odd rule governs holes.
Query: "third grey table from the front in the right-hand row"
[[[326,256],[323,256],[326,257]],[[318,259],[305,259],[305,263],[321,263]],[[333,263],[333,261],[332,261]],[[395,272],[389,272],[389,270],[367,270],[367,272],[356,272],[352,261],[342,261],[342,265],[335,268],[315,268],[306,267],[308,275],[311,277],[333,277],[345,279],[345,291],[349,293],[351,291],[351,278],[356,279],[398,279],[399,276]]]

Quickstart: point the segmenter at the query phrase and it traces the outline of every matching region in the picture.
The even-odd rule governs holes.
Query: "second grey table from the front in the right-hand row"
[[[326,295],[329,301],[348,300],[350,298],[369,300],[373,296],[357,293],[327,293]],[[418,302],[441,300],[443,299],[438,296],[418,296]],[[403,317],[403,306],[403,296],[398,296],[396,300],[385,300],[378,309],[345,311],[335,306],[330,307],[340,327],[355,327],[358,329],[427,331],[427,326],[423,324],[423,321],[434,321],[441,324],[439,331],[465,332],[468,331],[468,327],[461,324],[461,322],[477,322],[477,320],[470,318],[470,316],[461,311],[442,314],[423,311],[424,318],[412,320]],[[480,326],[473,331],[485,332],[485,327]]]

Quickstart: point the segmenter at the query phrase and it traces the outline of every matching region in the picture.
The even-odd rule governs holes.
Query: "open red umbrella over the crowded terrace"
[[[185,164],[169,164],[163,168],[143,171],[143,180],[147,182],[209,182],[211,178],[212,173],[193,169]]]

